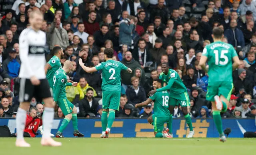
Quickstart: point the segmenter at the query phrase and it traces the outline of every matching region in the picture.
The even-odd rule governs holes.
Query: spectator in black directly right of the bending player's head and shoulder
[[[194,86],[196,86],[196,75],[194,74],[194,69],[191,65],[187,66],[187,75],[182,77],[184,85],[191,89]],[[201,106],[200,106],[201,107]],[[199,108],[199,107],[198,107]]]

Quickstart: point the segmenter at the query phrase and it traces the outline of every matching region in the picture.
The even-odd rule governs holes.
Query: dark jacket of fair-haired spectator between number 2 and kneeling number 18
[[[127,99],[128,101],[130,101],[130,103],[132,103],[132,105],[146,101],[146,93],[144,88],[141,86],[139,86],[138,88],[139,88],[138,94],[136,94],[136,92],[132,87],[128,87],[126,89]]]

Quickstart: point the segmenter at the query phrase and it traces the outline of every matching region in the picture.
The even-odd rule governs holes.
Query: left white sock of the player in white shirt
[[[16,115],[17,139],[24,139],[23,133],[25,129],[26,117],[27,111],[19,107]]]

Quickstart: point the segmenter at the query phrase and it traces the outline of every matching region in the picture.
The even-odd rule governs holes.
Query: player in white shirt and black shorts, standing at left
[[[30,147],[30,144],[24,140],[23,131],[26,123],[26,114],[32,97],[42,99],[45,103],[43,117],[44,134],[42,135],[41,144],[43,146],[62,145],[50,137],[55,105],[44,72],[44,66],[46,64],[44,56],[46,34],[40,30],[43,19],[41,12],[32,11],[29,16],[31,27],[23,30],[19,38],[21,66],[19,74],[20,107],[16,116],[17,147]]]

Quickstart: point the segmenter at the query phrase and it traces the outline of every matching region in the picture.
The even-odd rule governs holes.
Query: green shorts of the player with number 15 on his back
[[[208,101],[215,101],[214,96],[223,95],[228,101],[233,90],[233,83],[227,81],[216,81],[208,83],[206,99]]]

